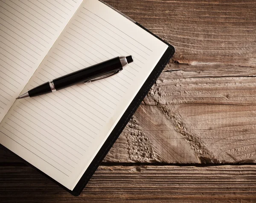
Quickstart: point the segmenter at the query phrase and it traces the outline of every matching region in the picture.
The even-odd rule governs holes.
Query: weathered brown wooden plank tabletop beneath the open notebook
[[[256,202],[256,3],[105,0],[176,54],[80,197],[0,151],[0,202]]]

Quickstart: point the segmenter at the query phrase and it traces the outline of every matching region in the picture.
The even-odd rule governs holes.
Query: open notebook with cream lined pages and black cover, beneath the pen
[[[99,0],[0,0],[0,144],[79,195],[174,51]],[[121,55],[113,77],[15,101]]]

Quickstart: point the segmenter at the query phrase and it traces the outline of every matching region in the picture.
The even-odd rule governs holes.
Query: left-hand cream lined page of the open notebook
[[[82,0],[0,0],[0,121]]]

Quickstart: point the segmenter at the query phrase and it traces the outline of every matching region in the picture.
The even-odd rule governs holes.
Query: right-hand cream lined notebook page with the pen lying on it
[[[103,3],[85,0],[23,92],[119,55],[134,63],[111,77],[15,102],[1,143],[73,189],[167,45]]]

